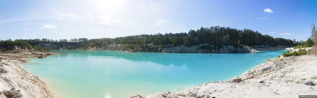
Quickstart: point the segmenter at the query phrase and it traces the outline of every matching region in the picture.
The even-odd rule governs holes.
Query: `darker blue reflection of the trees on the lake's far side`
[[[82,50],[56,50],[55,52],[68,52],[76,53],[77,56],[111,56],[113,59],[127,59],[132,61],[150,61],[162,65],[176,65],[181,66],[193,61],[201,62],[208,59],[222,59],[227,56],[240,57],[241,55],[253,55],[253,53],[228,53],[228,54],[194,54],[194,53],[156,53],[156,52],[125,52],[125,51],[82,51]],[[266,53],[260,52],[260,53]],[[270,55],[267,55],[270,56]],[[229,59],[228,59],[229,60]]]

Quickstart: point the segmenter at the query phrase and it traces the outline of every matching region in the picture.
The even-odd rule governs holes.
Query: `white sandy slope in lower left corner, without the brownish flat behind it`
[[[18,60],[0,58],[0,98],[53,98],[46,84]]]

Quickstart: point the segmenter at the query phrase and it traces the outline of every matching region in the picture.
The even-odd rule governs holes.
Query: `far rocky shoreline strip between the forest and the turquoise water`
[[[271,46],[245,46],[245,45],[223,45],[216,46],[211,44],[200,44],[194,46],[184,45],[106,45],[102,47],[88,47],[80,48],[75,46],[61,46],[57,47],[53,44],[41,44],[37,45],[40,48],[45,49],[81,49],[81,50],[120,50],[128,52],[166,52],[166,53],[249,53],[259,51],[273,51],[283,50],[284,47],[271,47]]]

